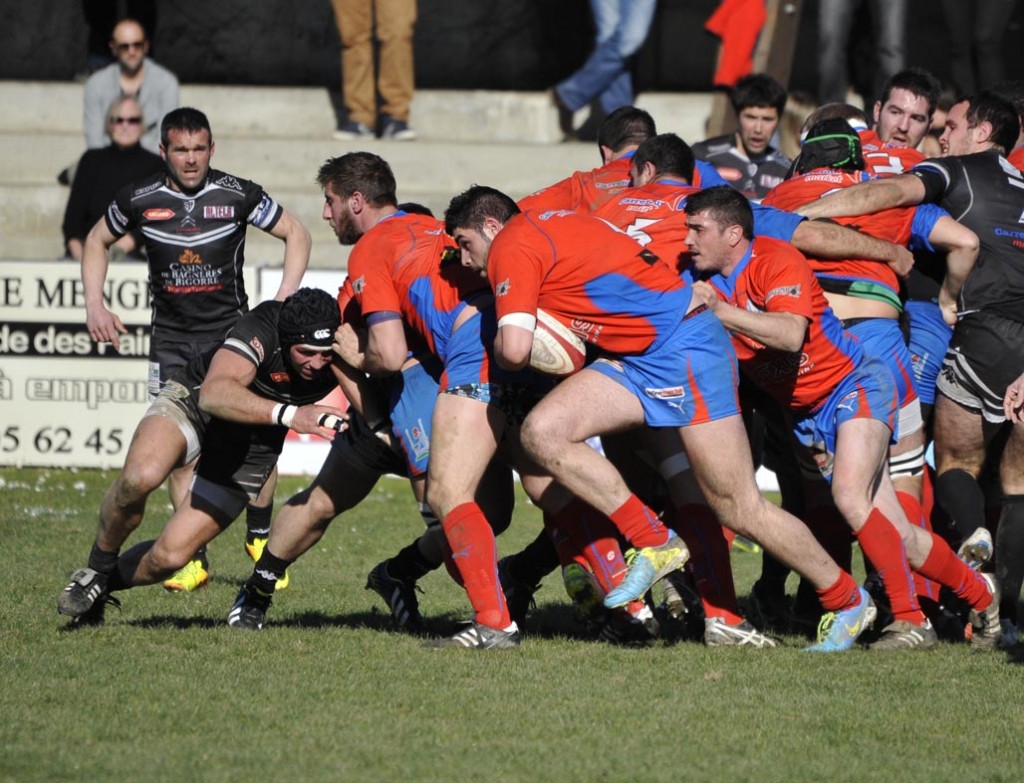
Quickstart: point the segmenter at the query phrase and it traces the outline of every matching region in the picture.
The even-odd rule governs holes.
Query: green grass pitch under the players
[[[362,589],[419,532],[392,479],[293,567],[262,633],[224,622],[251,569],[241,524],[210,548],[209,589],[121,594],[104,627],[69,632],[56,596],[112,475],[0,470],[2,781],[1024,778],[1024,668],[1007,653],[612,648],[583,637],[552,578],[518,650],[423,649]],[[279,505],[300,485],[283,480]],[[168,516],[155,496],[137,539]],[[539,527],[521,506],[502,551]],[[737,555],[740,593],[759,567]],[[467,615],[443,572],[423,588],[439,626]]]

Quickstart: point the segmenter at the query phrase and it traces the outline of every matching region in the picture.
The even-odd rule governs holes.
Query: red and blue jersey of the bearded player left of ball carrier
[[[446,254],[450,249],[457,250],[443,223],[396,212],[367,231],[348,259],[367,323],[400,316],[410,345],[425,343],[441,360],[466,302],[490,294],[487,281],[463,267],[457,252]]]

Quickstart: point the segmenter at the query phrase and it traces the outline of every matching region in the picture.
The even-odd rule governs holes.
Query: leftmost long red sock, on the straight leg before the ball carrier
[[[480,507],[475,503],[456,506],[441,521],[441,526],[476,621],[492,628],[507,628],[512,618],[498,581],[495,534]]]

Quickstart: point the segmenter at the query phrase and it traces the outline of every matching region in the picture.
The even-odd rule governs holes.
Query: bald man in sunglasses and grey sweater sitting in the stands
[[[178,80],[170,71],[146,56],[150,42],[135,19],[121,19],[111,34],[111,51],[117,57],[85,83],[85,145],[106,145],[106,110],[120,96],[133,97],[146,118],[142,146],[160,151],[160,121],[178,105]]]

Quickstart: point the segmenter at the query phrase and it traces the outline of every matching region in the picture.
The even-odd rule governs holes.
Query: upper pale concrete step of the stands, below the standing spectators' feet
[[[0,81],[0,132],[67,133],[81,138],[81,84]],[[337,93],[317,87],[183,85],[182,105],[209,116],[217,139],[287,137],[329,139],[337,123]],[[690,141],[705,137],[710,93],[647,93],[646,108],[659,129]],[[578,114],[583,122],[586,112]],[[558,117],[546,92],[418,90],[412,124],[421,139],[549,144],[561,140]]]

